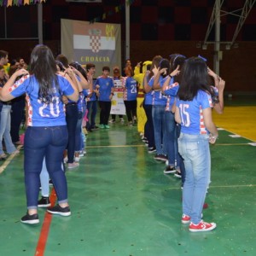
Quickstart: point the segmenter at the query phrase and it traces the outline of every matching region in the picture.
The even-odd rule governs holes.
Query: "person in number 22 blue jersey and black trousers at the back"
[[[133,75],[132,67],[125,67],[125,77],[122,81],[124,88],[123,98],[128,124],[131,126],[137,121],[137,81],[133,79]]]

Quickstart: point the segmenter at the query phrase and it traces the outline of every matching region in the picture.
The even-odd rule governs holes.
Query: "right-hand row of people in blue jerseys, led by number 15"
[[[143,141],[148,153],[156,152],[155,160],[166,162],[164,173],[182,178],[181,222],[189,224],[191,232],[213,230],[216,224],[201,216],[211,181],[209,143],[218,138],[212,108],[223,113],[225,82],[200,55],[174,54],[169,60],[156,55],[144,64]]]

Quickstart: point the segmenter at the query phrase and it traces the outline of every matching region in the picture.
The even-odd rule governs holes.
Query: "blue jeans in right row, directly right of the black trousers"
[[[165,143],[163,143],[163,138],[165,137],[166,106],[154,105],[152,115],[154,123],[154,143],[156,154],[167,154]]]

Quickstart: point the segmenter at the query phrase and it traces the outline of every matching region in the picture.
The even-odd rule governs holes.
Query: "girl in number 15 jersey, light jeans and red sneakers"
[[[201,220],[201,212],[211,170],[209,143],[215,143],[218,137],[212,122],[212,90],[207,65],[201,58],[189,58],[181,75],[175,119],[181,124],[178,150],[186,169],[182,223],[190,223],[192,232],[209,231],[216,224]]]

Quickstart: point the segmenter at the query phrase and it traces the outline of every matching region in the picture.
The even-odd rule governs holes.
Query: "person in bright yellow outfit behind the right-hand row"
[[[137,81],[138,94],[137,94],[137,131],[143,137],[144,135],[144,126],[147,122],[147,116],[143,108],[144,101],[144,91],[143,91],[143,79],[147,71],[147,66],[151,65],[152,61],[143,62],[143,73],[140,73],[141,62],[137,63],[137,66],[134,68],[134,77]]]

